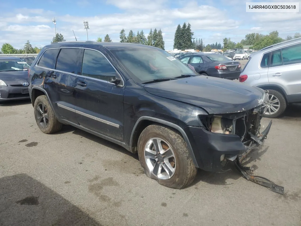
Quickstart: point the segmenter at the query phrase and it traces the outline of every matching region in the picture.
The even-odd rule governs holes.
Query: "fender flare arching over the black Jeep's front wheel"
[[[139,125],[139,123],[143,120],[148,120],[148,121],[153,121],[153,122],[157,122],[157,123],[160,123],[160,124],[163,124],[163,125],[166,125],[166,126],[169,126],[169,127],[172,127],[174,128],[175,130],[177,130],[181,135],[182,137],[184,138],[186,144],[187,144],[187,147],[188,147],[188,151],[191,155],[191,158],[193,160],[193,163],[195,165],[195,167],[198,168],[198,164],[197,164],[197,161],[195,159],[195,155],[194,155],[194,152],[192,150],[192,147],[191,147],[191,144],[190,144],[190,141],[185,133],[185,131],[178,125],[174,124],[174,123],[171,123],[169,121],[165,121],[165,120],[162,120],[162,119],[159,119],[159,118],[153,118],[153,117],[150,117],[150,116],[141,116],[140,118],[138,118],[138,120],[136,121],[133,129],[132,129],[132,133],[131,133],[131,137],[130,137],[130,146],[132,147],[133,146],[133,136],[134,136],[134,133],[135,133],[135,130],[137,128],[137,126]]]

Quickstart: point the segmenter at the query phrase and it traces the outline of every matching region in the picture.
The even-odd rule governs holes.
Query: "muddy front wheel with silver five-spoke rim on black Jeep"
[[[183,137],[160,125],[150,125],[142,131],[138,156],[145,174],[166,187],[184,188],[197,174]]]

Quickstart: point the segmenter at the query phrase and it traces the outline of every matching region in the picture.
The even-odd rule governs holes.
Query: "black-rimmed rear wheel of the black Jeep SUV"
[[[61,130],[62,124],[57,121],[45,95],[38,96],[33,105],[36,123],[43,133],[55,133]]]

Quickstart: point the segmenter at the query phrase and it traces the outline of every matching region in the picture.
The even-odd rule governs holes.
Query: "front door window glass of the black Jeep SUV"
[[[108,81],[110,78],[116,77],[116,71],[100,52],[85,49],[82,75]]]

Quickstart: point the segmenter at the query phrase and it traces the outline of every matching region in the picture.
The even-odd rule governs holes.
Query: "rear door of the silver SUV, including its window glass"
[[[270,84],[281,86],[290,102],[301,98],[301,43],[271,52],[268,68]],[[292,95],[292,96],[291,96]]]

